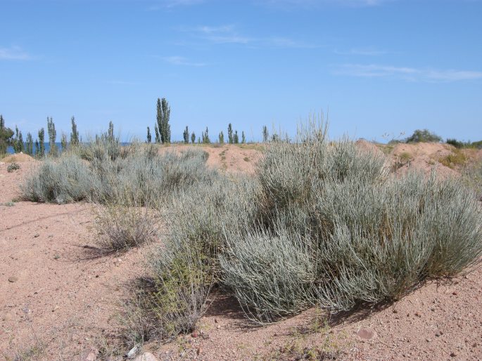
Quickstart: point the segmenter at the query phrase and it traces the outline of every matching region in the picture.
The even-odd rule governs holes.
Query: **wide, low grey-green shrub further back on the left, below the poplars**
[[[102,204],[162,203],[196,182],[209,185],[215,172],[207,169],[206,159],[202,150],[158,155],[154,145],[94,142],[58,160],[46,159],[21,190],[24,199],[37,202],[54,202],[60,196],[63,202],[88,198]]]

